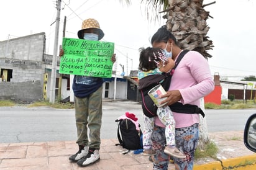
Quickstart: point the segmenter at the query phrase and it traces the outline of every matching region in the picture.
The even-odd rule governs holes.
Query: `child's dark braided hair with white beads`
[[[150,71],[158,67],[160,61],[165,63],[167,58],[160,48],[140,48],[140,63],[139,69],[142,71]]]

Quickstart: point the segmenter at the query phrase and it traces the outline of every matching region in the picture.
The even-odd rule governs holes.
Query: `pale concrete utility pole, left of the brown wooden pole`
[[[54,38],[54,48],[52,57],[52,74],[50,83],[50,103],[55,102],[55,87],[56,87],[56,68],[57,68],[57,53],[58,53],[58,31],[60,29],[60,9],[62,0],[57,0],[57,17],[55,26],[55,38]]]

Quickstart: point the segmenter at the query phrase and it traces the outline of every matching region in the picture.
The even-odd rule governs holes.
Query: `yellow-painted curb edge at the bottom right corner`
[[[208,164],[194,165],[193,170],[256,169],[256,154],[237,158],[222,159]]]

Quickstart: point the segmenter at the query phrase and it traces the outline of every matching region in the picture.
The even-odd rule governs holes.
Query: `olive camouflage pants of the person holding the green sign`
[[[101,144],[101,119],[103,115],[102,92],[103,87],[101,86],[89,97],[83,99],[75,97],[75,117],[78,136],[76,143],[78,145],[99,149]]]

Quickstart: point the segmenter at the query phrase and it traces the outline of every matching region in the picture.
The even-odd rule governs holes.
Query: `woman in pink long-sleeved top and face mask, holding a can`
[[[151,39],[154,48],[162,48],[166,55],[176,58],[181,53],[176,38],[161,27]],[[206,96],[214,89],[213,76],[208,61],[197,51],[188,51],[175,69],[171,78],[169,91],[162,97],[168,97],[164,102],[168,105],[175,102],[200,106],[200,98]],[[176,147],[186,155],[186,159],[173,158],[175,168],[178,170],[192,170],[194,151],[199,138],[199,114],[181,114],[173,112],[176,122]],[[159,119],[155,119],[155,128],[152,134],[153,149],[157,152],[153,156],[153,169],[168,169],[170,156],[163,152],[165,144],[165,129]]]

